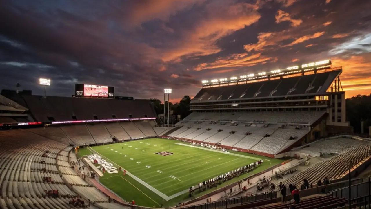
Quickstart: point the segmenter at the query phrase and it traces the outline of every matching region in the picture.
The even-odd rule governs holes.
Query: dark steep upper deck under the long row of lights
[[[203,88],[196,94],[192,101],[207,102],[212,100],[249,99],[324,93],[338,74],[339,70],[334,70],[278,80]]]

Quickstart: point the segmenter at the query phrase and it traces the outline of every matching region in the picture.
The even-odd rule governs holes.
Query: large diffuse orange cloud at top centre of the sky
[[[179,46],[164,52],[162,59],[177,62],[182,56],[217,53],[221,50],[215,45],[218,39],[252,25],[260,19],[256,5],[230,4],[230,1],[211,1],[207,4],[207,18],[200,20],[193,30],[184,33],[184,38],[178,43]]]

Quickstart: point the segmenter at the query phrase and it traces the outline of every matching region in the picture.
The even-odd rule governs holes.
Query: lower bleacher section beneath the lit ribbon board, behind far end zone
[[[45,128],[27,129],[27,131],[63,144],[76,145],[112,142],[114,136],[119,141],[123,141],[157,135],[148,121],[46,126]]]

